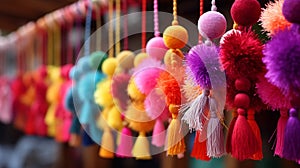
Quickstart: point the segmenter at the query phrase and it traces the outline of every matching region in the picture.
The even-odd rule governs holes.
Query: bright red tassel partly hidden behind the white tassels
[[[200,141],[200,135],[201,131],[196,131],[196,136],[195,136],[195,140],[194,140],[194,146],[193,146],[193,150],[191,153],[191,157],[199,159],[199,160],[203,160],[203,161],[209,161],[210,157],[207,156],[207,146],[206,146],[206,141],[207,139],[205,139],[205,141]]]

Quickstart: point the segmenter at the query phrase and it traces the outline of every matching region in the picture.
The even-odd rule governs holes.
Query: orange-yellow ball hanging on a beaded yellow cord
[[[180,49],[188,42],[188,32],[180,25],[169,26],[164,31],[163,39],[168,48]]]

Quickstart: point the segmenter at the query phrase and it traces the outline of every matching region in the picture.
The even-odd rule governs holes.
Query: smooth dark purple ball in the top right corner
[[[284,0],[282,13],[286,20],[291,23],[300,24],[300,2],[298,0]]]

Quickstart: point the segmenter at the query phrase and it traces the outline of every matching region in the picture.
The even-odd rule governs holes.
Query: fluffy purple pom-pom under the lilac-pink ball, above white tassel
[[[194,46],[186,56],[186,64],[192,73],[192,78],[203,89],[211,89],[212,82],[220,84],[219,52],[214,45],[199,44]],[[216,85],[218,87],[218,85]]]

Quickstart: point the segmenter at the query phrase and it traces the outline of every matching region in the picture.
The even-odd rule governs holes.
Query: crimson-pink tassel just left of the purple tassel
[[[288,120],[288,110],[280,110],[280,118],[277,123],[277,135],[276,135],[276,147],[275,147],[275,155],[279,157],[283,157],[283,145],[284,145],[284,133],[285,127]]]

